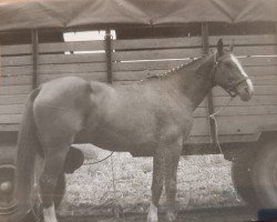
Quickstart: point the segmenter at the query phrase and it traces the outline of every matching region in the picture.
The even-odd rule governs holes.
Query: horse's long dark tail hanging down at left
[[[39,92],[40,89],[35,89],[28,98],[18,138],[14,199],[22,213],[32,208],[34,160],[37,147],[40,145],[33,118],[33,101]]]

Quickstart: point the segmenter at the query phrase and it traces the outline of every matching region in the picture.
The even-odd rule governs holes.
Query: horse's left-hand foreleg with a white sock
[[[164,153],[157,150],[153,158],[153,179],[152,179],[152,201],[150,204],[147,222],[157,222],[157,205],[163,191],[164,182]]]

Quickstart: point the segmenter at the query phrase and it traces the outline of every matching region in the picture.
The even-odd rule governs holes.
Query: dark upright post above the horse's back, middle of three
[[[105,54],[106,54],[106,78],[109,83],[113,83],[112,70],[112,34],[111,30],[105,31]]]

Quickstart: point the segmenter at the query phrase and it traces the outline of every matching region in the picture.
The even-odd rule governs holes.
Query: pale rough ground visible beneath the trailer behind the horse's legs
[[[91,145],[80,148],[86,162],[110,154]],[[111,213],[115,205],[121,205],[124,213],[144,213],[151,198],[152,158],[114,153],[104,162],[83,165],[66,179],[66,193],[59,210],[61,215]],[[244,205],[233,186],[230,162],[222,155],[182,157],[177,189],[181,211]],[[161,211],[164,202],[163,194]]]

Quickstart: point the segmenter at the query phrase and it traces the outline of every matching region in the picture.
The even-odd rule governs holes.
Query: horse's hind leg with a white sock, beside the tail
[[[69,147],[45,149],[45,162],[40,176],[40,191],[43,206],[44,222],[57,222],[53,194],[59,175],[63,170],[63,163]]]

